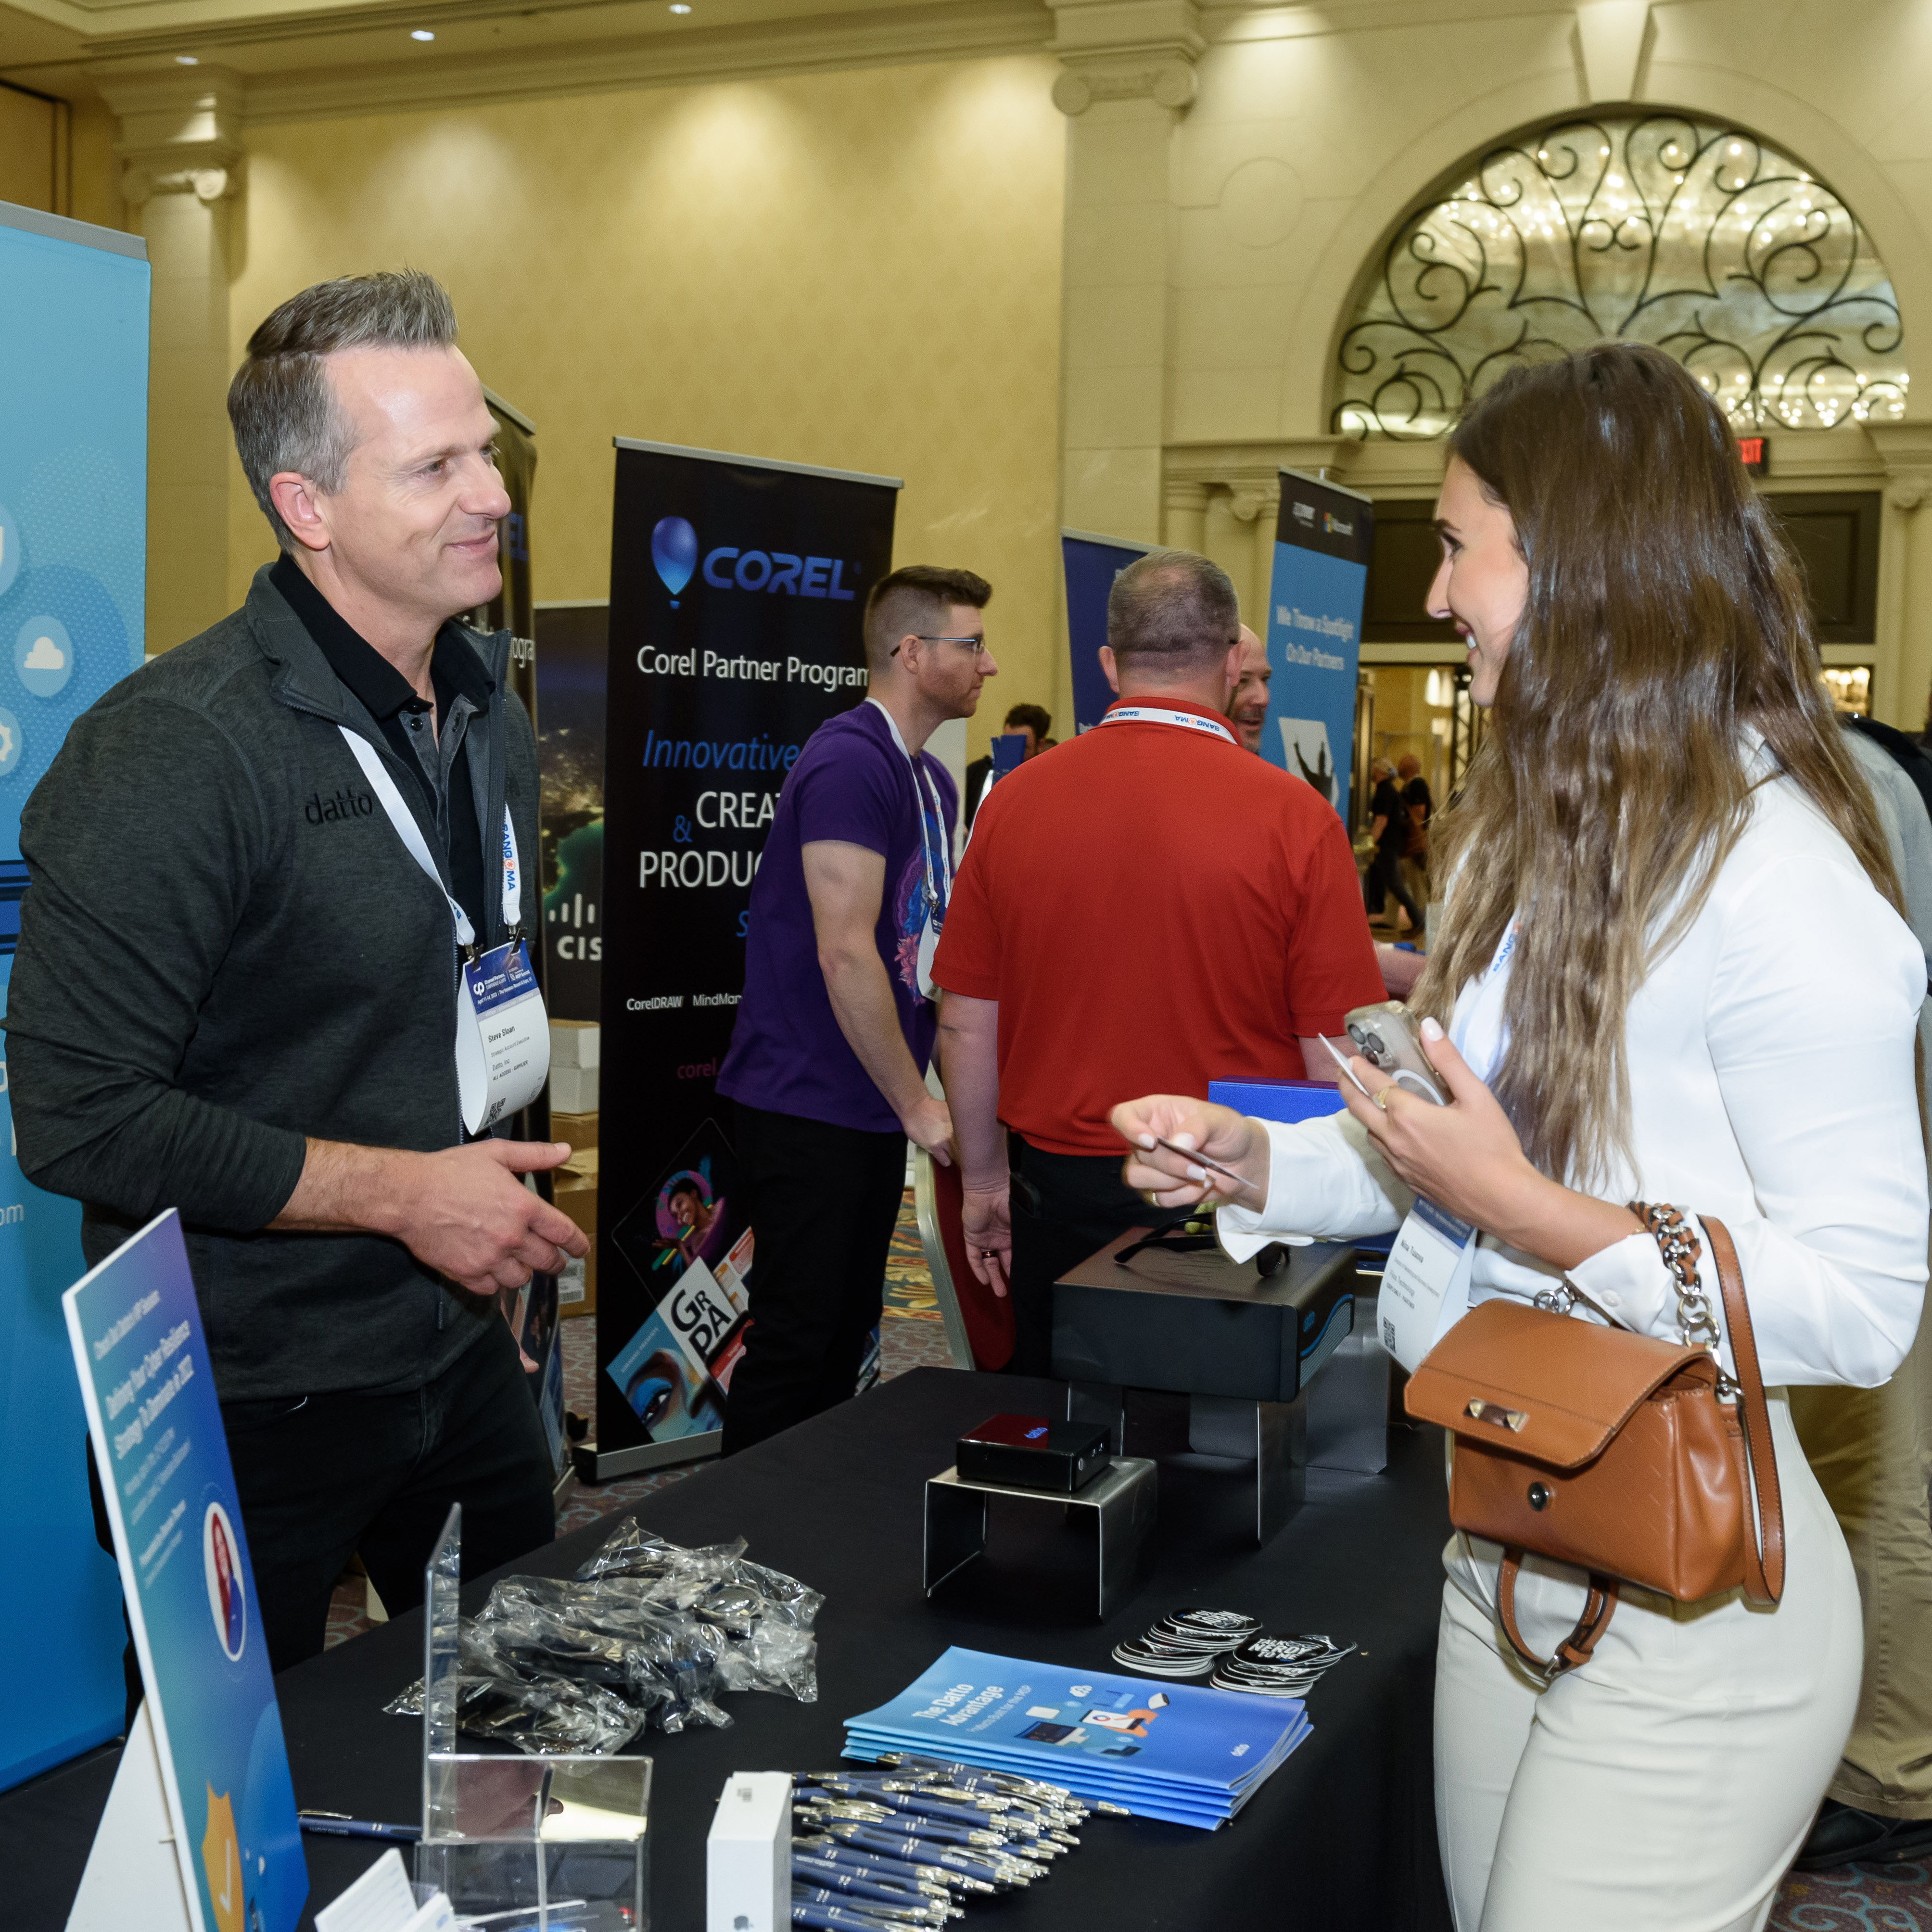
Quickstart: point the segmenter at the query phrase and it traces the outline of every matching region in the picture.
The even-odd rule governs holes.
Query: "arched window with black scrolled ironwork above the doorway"
[[[1897,301],[1851,209],[1741,128],[1646,114],[1493,147],[1410,214],[1341,338],[1331,423],[1430,440],[1511,363],[1607,336],[1669,350],[1739,433],[1905,413]]]

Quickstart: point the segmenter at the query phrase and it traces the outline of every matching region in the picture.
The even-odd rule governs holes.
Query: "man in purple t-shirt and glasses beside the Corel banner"
[[[933,947],[958,800],[923,748],[999,667],[970,570],[914,564],[866,599],[871,690],[806,742],[752,887],[744,999],[719,1092],[757,1236],[724,1455],[846,1401],[879,1325],[906,1138],[949,1161],[925,1090]]]

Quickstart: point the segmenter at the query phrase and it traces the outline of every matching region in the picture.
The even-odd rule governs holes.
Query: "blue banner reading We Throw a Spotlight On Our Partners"
[[[1262,755],[1306,779],[1347,821],[1362,597],[1376,541],[1368,497],[1300,469],[1281,471],[1275,568],[1267,587],[1267,705]]]

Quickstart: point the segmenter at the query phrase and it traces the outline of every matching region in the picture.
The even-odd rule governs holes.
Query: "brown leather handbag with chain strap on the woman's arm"
[[[1548,1681],[1596,1648],[1619,1582],[1687,1604],[1739,1586],[1752,1604],[1776,1604],[1785,1588],[1772,1418],[1731,1235],[1704,1215],[1735,1381],[1714,1352],[1696,1236],[1675,1208],[1631,1206],[1671,1265],[1683,1343],[1575,1321],[1557,1308],[1573,1289],[1548,1306],[1492,1300],[1443,1335],[1405,1397],[1412,1416],[1453,1432],[1449,1519],[1503,1546],[1497,1611]],[[1517,1629],[1526,1549],[1590,1577],[1577,1629],[1549,1660]]]

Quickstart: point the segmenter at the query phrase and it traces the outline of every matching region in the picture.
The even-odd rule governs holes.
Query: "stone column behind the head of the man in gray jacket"
[[[242,187],[242,75],[95,73],[120,118],[122,197],[155,276],[147,400],[147,647],[228,609],[230,220]]]

